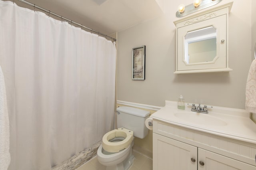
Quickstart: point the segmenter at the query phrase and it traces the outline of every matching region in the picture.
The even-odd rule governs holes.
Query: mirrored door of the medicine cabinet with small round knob
[[[178,28],[178,70],[226,68],[226,16]]]

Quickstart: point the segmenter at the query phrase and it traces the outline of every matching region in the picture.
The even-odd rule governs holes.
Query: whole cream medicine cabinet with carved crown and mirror
[[[228,67],[228,14],[233,2],[174,22],[176,71],[232,71]]]

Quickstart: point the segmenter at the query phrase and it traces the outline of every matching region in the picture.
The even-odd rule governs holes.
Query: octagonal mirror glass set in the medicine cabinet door
[[[213,26],[190,31],[184,41],[186,64],[212,62],[217,56],[217,32]]]

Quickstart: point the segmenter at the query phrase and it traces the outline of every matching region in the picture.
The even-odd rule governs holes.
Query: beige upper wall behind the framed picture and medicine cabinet
[[[233,71],[180,75],[173,73],[176,67],[173,21],[179,3],[192,2],[172,3],[165,5],[168,10],[162,16],[118,32],[117,99],[164,106],[164,100],[176,101],[182,94],[189,103],[244,109],[246,79],[252,62],[252,12],[250,8],[247,10],[256,2],[234,0],[228,30],[229,66]],[[146,79],[132,80],[132,48],[142,45],[146,45]]]

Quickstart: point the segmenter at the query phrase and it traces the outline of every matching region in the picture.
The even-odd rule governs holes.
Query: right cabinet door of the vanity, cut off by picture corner
[[[256,170],[256,166],[198,148],[198,170]]]

